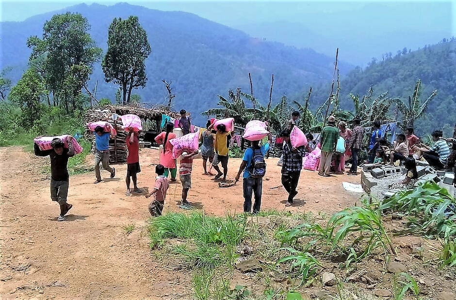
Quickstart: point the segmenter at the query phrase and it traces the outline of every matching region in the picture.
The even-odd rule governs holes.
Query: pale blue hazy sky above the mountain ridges
[[[80,4],[111,5],[112,0],[0,0],[2,21],[28,17]],[[456,0],[396,1],[249,1],[126,0],[159,10],[178,10],[296,47],[309,47],[365,65],[385,52],[416,50],[456,36]]]

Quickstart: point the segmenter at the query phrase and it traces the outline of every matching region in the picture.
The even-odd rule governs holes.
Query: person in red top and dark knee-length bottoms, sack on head
[[[141,193],[142,190],[138,188],[136,174],[141,172],[141,167],[139,166],[139,137],[137,132],[130,130],[127,138],[125,139],[125,145],[127,145],[128,155],[127,155],[127,177],[125,178],[125,183],[127,183],[127,192],[125,195],[130,196],[130,177],[133,181],[133,192]]]

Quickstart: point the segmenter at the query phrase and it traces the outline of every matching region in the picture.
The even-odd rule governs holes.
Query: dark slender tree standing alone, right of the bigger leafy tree
[[[131,90],[146,86],[144,61],[150,54],[147,33],[138,17],[114,18],[108,30],[108,50],[101,64],[106,82],[119,84],[123,104],[130,102]]]

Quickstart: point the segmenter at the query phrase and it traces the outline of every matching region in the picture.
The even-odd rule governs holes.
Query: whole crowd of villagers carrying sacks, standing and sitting
[[[189,134],[191,128],[190,118],[187,117],[185,110],[180,111],[179,127],[182,133]],[[301,147],[293,147],[290,134],[294,126],[299,126],[299,112],[293,112],[291,119],[284,124],[284,129],[278,135],[283,139],[282,155],[279,160],[281,166],[281,183],[288,193],[286,206],[293,205],[293,200],[298,194],[297,186],[303,169],[303,157],[306,153],[319,147],[321,150],[320,165],[318,175],[329,177],[331,173],[341,175],[345,173],[346,163],[351,163],[347,175],[358,175],[358,163],[361,160],[361,153],[367,150],[366,163],[399,165],[403,164],[407,168],[405,183],[410,183],[417,179],[416,160],[426,160],[430,166],[439,169],[455,169],[456,160],[456,125],[452,138],[443,138],[442,132],[436,130],[432,133],[433,145],[427,146],[421,139],[414,134],[413,128],[407,128],[405,134],[396,134],[393,145],[390,145],[385,138],[385,133],[380,129],[381,123],[375,121],[373,130],[370,134],[369,145],[364,146],[363,140],[366,135],[365,128],[361,127],[361,120],[352,120],[353,129],[348,128],[347,123],[336,122],[334,116],[326,120],[318,141],[314,141],[313,135],[308,133],[308,144]],[[267,124],[267,123],[266,123]],[[173,144],[170,140],[176,138],[173,133],[174,124],[167,123],[164,131],[155,138],[157,144],[161,146],[160,164],[155,167],[157,175],[155,184],[146,198],[154,196],[154,200],[149,204],[149,212],[152,216],[160,216],[166,200],[167,190],[170,183],[177,182],[177,160],[173,157]],[[104,132],[104,128],[95,128],[95,177],[94,183],[100,183],[100,164],[110,172],[110,177],[114,178],[115,168],[109,166],[109,140],[114,135]],[[214,128],[214,122],[208,120],[206,130],[200,134],[200,151],[183,152],[180,156],[179,179],[182,185],[180,208],[192,209],[189,203],[188,193],[192,188],[193,160],[199,153],[202,156],[202,167],[205,175],[214,176],[214,180],[226,182],[228,175],[228,152],[232,132],[227,130],[224,124],[218,124]],[[137,174],[141,172],[139,165],[139,135],[138,132],[130,130],[126,137],[128,148],[127,174],[126,174],[126,195],[132,192],[142,193],[137,186]],[[272,144],[272,136],[269,134],[261,141],[251,141],[250,147],[245,149],[242,163],[235,176],[238,182],[242,176],[244,212],[258,213],[261,209],[262,180],[266,174],[265,156]],[[452,145],[450,150],[449,144]],[[54,139],[51,143],[52,150],[40,150],[34,144],[35,154],[38,156],[50,157],[51,182],[50,195],[53,201],[60,205],[59,221],[65,220],[65,215],[72,208],[67,203],[68,194],[68,158],[73,156],[71,147],[65,148],[65,144],[60,139]],[[366,149],[367,148],[367,149]],[[208,166],[209,162],[209,166]],[[219,167],[221,165],[221,168]],[[212,169],[216,174],[212,173]],[[168,180],[168,178],[170,179]],[[130,190],[130,183],[133,182],[133,189]],[[456,179],[454,181],[456,186]],[[254,203],[252,206],[252,196]]]

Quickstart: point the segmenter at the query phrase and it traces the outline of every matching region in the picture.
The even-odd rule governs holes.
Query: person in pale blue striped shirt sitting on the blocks
[[[414,150],[422,151],[424,159],[430,166],[443,169],[447,163],[448,156],[450,155],[450,147],[448,147],[446,140],[442,139],[441,130],[434,131],[431,136],[434,141],[432,147],[420,144],[421,147],[415,145]]]

